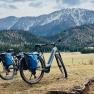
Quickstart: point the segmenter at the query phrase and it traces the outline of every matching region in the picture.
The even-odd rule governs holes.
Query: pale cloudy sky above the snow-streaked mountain
[[[94,10],[94,0],[0,0],[0,18],[39,16],[62,8]]]

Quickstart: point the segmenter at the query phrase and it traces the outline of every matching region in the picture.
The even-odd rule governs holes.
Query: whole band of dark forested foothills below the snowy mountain
[[[77,51],[85,47],[94,47],[94,24],[76,26],[59,32],[54,36],[39,37],[27,31],[0,31],[0,49],[25,48],[31,50],[34,44],[55,42],[61,50]],[[49,47],[46,47],[49,50]]]

